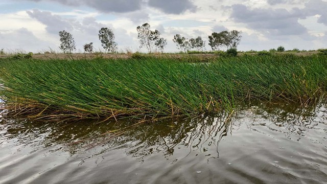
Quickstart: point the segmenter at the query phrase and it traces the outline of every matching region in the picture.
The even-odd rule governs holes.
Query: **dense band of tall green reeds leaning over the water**
[[[232,111],[249,100],[306,105],[324,98],[327,57],[0,60],[0,97],[13,114],[116,118]]]

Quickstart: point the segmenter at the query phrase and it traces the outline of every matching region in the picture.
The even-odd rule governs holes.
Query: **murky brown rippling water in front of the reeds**
[[[134,123],[2,118],[0,183],[327,183],[325,105]]]

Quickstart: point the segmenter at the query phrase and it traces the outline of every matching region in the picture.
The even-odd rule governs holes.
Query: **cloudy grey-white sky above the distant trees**
[[[76,52],[99,30],[115,34],[119,52],[139,49],[136,27],[148,22],[167,39],[165,52],[178,52],[174,35],[201,36],[206,50],[213,32],[242,31],[240,51],[327,48],[327,0],[1,0],[0,49],[59,52],[59,31],[71,33]]]

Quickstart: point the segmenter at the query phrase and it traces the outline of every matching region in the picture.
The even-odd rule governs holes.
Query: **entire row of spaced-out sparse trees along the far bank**
[[[156,52],[164,52],[167,39],[161,37],[161,33],[158,30],[152,31],[148,23],[142,26],[137,26],[137,39],[139,42],[139,48],[146,48],[149,53],[154,49]],[[208,36],[208,45],[213,51],[219,51],[221,48],[237,49],[241,42],[242,32],[237,30],[222,31],[220,33],[212,33]],[[60,36],[60,49],[64,53],[72,53],[76,51],[75,41],[73,35],[66,31],[59,31]],[[99,40],[105,51],[108,53],[114,53],[117,50],[117,43],[114,41],[115,35],[110,28],[101,28],[99,30]],[[176,44],[177,49],[183,52],[190,50],[203,51],[205,49],[205,41],[198,36],[197,38],[185,38],[180,34],[176,34],[173,38],[173,42]],[[84,51],[88,53],[93,52],[93,42],[83,45]]]

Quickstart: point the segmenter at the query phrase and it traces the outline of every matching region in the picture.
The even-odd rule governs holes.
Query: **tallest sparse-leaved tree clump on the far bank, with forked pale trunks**
[[[156,46],[161,52],[164,52],[164,48],[167,45],[167,40],[160,37],[160,32],[158,30],[151,31],[150,25],[148,23],[142,26],[137,26],[137,39],[139,41],[139,48],[146,47],[149,53],[151,53],[151,48]]]

